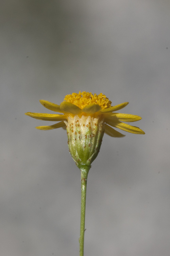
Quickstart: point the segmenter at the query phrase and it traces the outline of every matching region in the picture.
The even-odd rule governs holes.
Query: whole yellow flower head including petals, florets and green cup
[[[111,106],[112,102],[102,93],[92,95],[83,91],[66,95],[60,105],[46,100],[40,100],[45,108],[63,114],[26,113],[26,115],[39,120],[60,121],[51,126],[38,126],[39,130],[51,130],[66,127],[68,146],[72,158],[80,168],[81,165],[90,166],[97,157],[104,132],[111,137],[124,137],[125,135],[112,127],[123,131],[145,134],[136,126],[122,122],[135,122],[140,116],[115,113],[124,108],[128,102]],[[113,113],[114,112],[114,113]],[[112,126],[112,127],[111,127]]]

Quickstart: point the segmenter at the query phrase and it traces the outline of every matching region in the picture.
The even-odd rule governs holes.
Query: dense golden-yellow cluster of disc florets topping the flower
[[[92,93],[86,93],[86,91],[82,91],[82,93],[79,91],[79,93],[66,95],[64,100],[78,106],[80,109],[83,109],[85,106],[91,103],[98,104],[102,109],[110,108],[112,104],[112,101],[110,101],[102,93],[99,95],[93,95]]]

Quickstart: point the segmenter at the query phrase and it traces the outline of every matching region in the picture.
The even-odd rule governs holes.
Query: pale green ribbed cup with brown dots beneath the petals
[[[103,119],[91,116],[68,117],[65,121],[68,147],[78,168],[89,166],[97,157],[104,134]]]

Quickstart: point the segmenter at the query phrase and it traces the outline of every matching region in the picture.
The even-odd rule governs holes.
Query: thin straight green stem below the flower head
[[[85,227],[85,211],[86,211],[86,187],[87,176],[90,166],[81,165],[81,222],[80,222],[80,256],[84,255],[84,227]]]

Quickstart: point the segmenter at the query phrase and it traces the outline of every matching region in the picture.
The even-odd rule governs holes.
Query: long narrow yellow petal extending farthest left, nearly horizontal
[[[63,119],[67,119],[66,115],[55,115],[55,114],[45,114],[45,113],[25,113],[27,116],[31,116],[35,119],[46,120],[46,121],[62,121]]]

